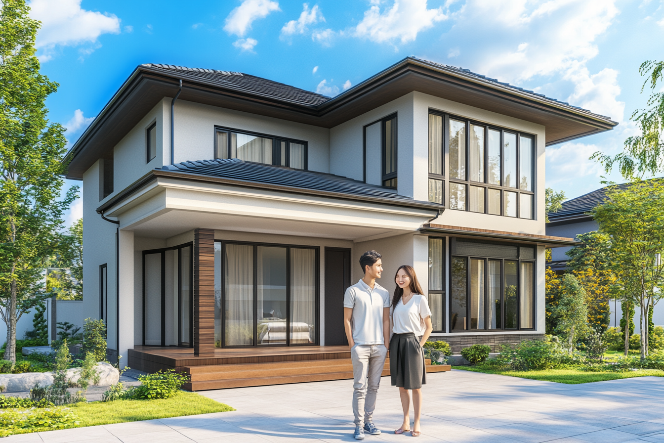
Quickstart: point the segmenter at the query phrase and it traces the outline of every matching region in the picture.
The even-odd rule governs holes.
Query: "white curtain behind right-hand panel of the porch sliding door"
[[[315,337],[315,250],[291,248],[291,343]]]

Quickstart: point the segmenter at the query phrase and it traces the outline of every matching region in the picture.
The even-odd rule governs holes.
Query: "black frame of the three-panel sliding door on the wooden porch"
[[[226,244],[243,244],[243,245],[248,245],[248,246],[253,246],[254,248],[254,338],[253,338],[253,345],[232,345],[228,346],[226,345],[226,316],[223,315],[223,313],[220,315],[220,320],[221,320],[221,336],[220,336],[220,349],[260,349],[260,348],[267,348],[267,347],[297,347],[297,346],[317,346],[321,343],[321,248],[320,246],[311,246],[307,244],[284,244],[284,243],[265,243],[265,242],[243,242],[243,241],[238,241],[238,240],[214,240],[214,242],[219,242],[221,243],[221,248],[220,248],[220,260],[219,260],[219,266],[220,266],[220,285],[221,285],[221,309],[222,311],[224,310],[224,306],[226,306],[226,279],[224,276],[224,259],[226,254]],[[276,247],[276,248],[286,248],[286,306],[288,307],[288,310],[286,311],[286,343],[281,344],[281,343],[276,343],[276,344],[268,344],[268,345],[258,345],[258,313],[256,312],[256,306],[258,304],[258,246],[268,246],[268,247]],[[314,333],[314,338],[315,342],[314,343],[291,343],[290,341],[290,335],[288,334],[288,331],[290,331],[290,317],[291,317],[291,312],[290,312],[290,300],[291,300],[291,282],[290,282],[290,274],[291,274],[291,254],[290,250],[291,248],[295,249],[312,249],[315,251],[315,318],[314,318],[314,327],[315,327],[315,333]],[[216,310],[216,307],[215,307]]]

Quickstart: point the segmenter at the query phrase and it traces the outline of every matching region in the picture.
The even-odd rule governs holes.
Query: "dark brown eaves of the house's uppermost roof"
[[[67,153],[67,177],[81,179],[84,171],[113,149],[160,100],[175,96],[180,80],[178,70],[138,66]],[[546,128],[546,145],[617,125],[610,118],[540,94],[410,57],[318,106],[192,78],[183,80],[179,100],[333,128],[413,91],[541,124]]]

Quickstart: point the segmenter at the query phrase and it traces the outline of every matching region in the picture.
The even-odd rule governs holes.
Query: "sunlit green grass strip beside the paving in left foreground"
[[[209,414],[210,412],[226,412],[234,408],[216,402],[197,393],[180,391],[171,399],[163,400],[116,400],[112,402],[78,403],[69,406],[78,416],[80,422],[77,426],[96,426],[98,424],[111,424],[122,422],[135,422],[138,420],[153,420],[154,418],[178,417],[183,415]],[[29,430],[26,432],[36,432]],[[22,434],[23,432],[15,432]]]

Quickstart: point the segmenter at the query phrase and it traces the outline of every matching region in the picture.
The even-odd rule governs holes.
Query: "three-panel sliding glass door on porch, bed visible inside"
[[[218,345],[318,342],[318,248],[224,242]]]

